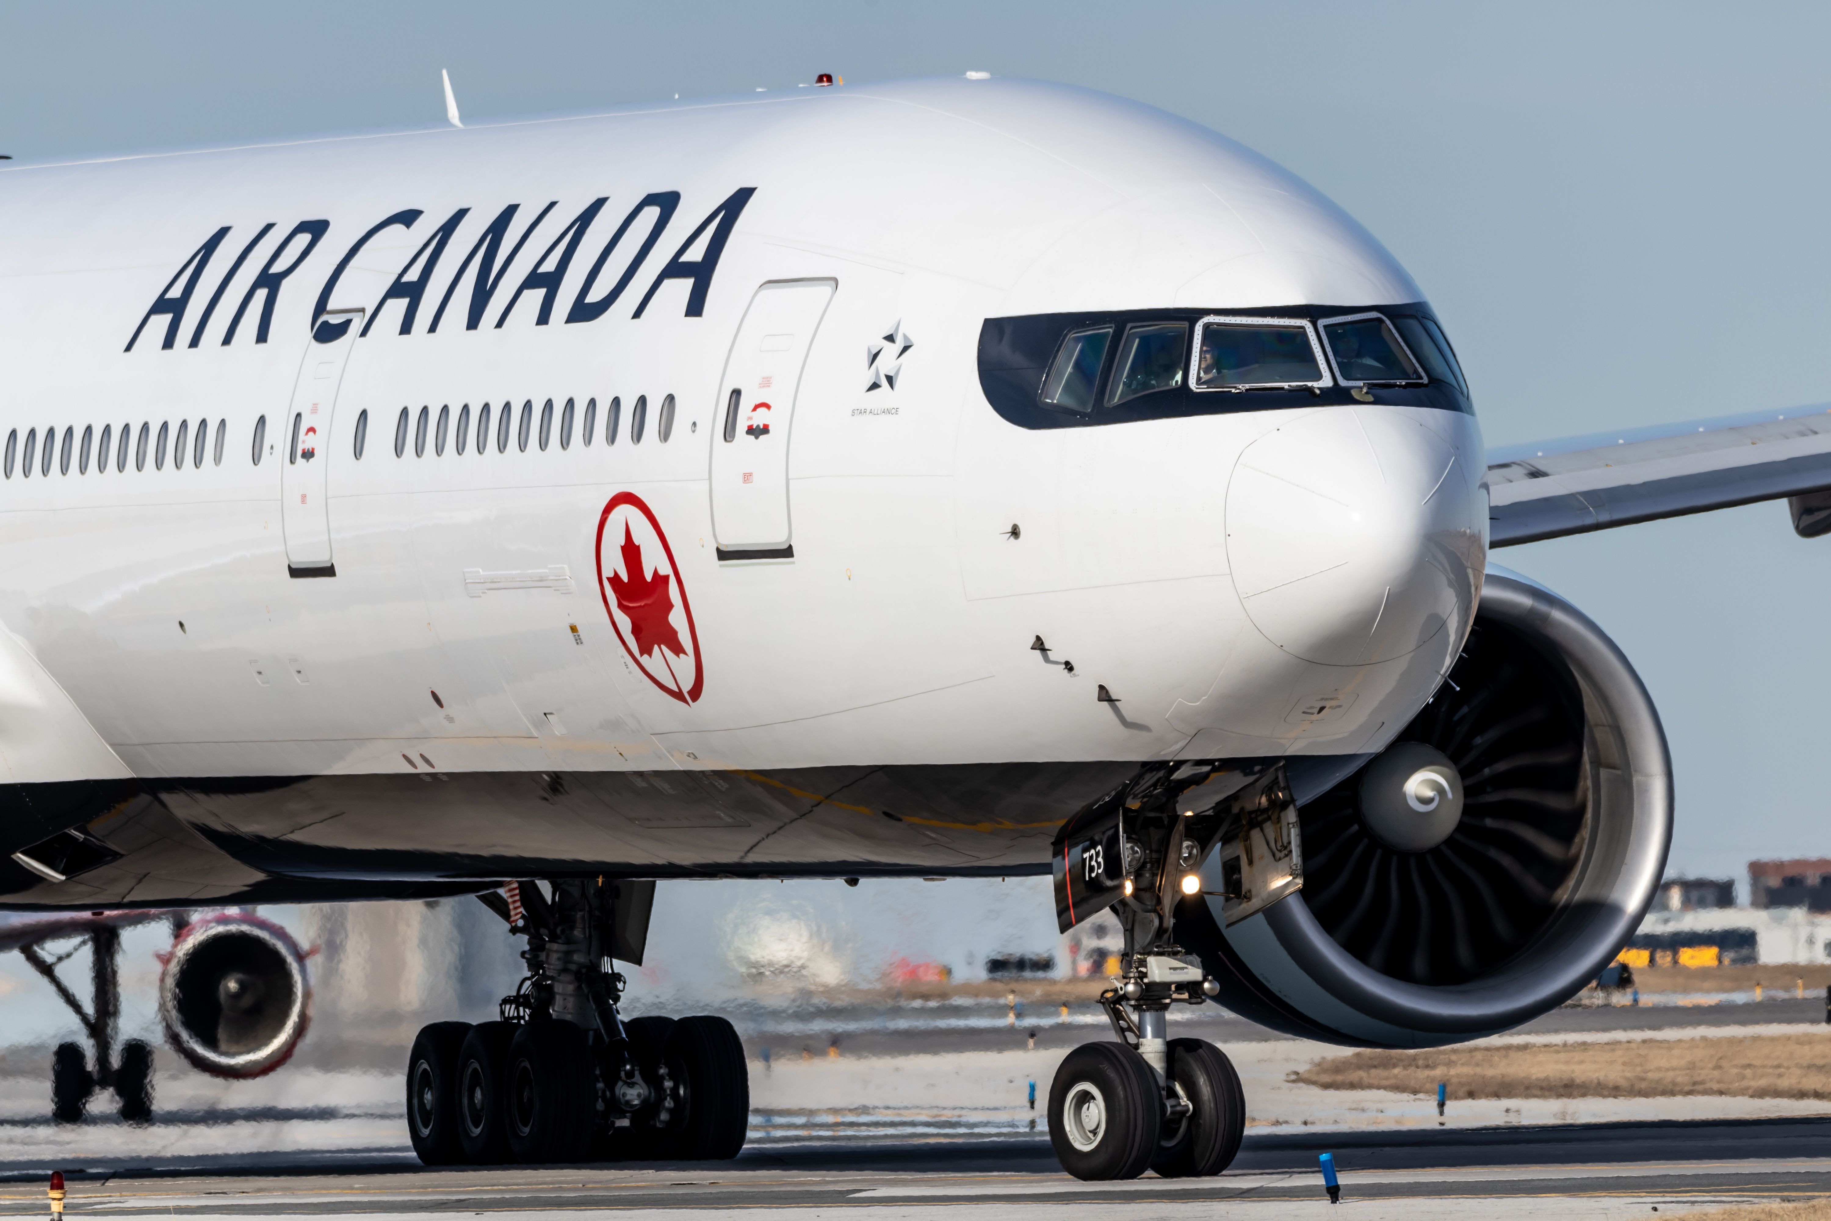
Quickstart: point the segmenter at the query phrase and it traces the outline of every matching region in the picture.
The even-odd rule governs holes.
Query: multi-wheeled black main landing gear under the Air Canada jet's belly
[[[406,1062],[419,1161],[725,1159],[743,1148],[751,1084],[723,1018],[617,1014],[641,965],[654,882],[557,881],[480,895],[527,937],[527,978],[498,1021],[436,1021]]]

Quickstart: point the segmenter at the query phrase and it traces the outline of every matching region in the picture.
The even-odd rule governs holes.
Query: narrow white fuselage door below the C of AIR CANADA
[[[361,331],[361,309],[337,309],[330,320],[350,319],[342,335],[306,348],[293,386],[293,403],[280,421],[280,525],[286,531],[286,567],[293,577],[335,577],[331,520],[326,505],[326,467],[331,456],[331,410],[350,350]]]

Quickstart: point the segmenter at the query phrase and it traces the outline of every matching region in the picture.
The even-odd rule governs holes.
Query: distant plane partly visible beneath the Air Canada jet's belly
[[[44,871],[35,860],[33,871]],[[46,877],[55,877],[42,873]],[[145,1040],[117,1047],[121,1023],[121,932],[165,921],[172,948],[159,954],[159,1020],[192,1067],[229,1080],[265,1076],[291,1060],[311,1021],[309,952],[280,924],[253,912],[194,913],[130,908],[0,915],[0,954],[38,972],[82,1025],[92,1053],[59,1043],[51,1053],[51,1118],[77,1124],[97,1093],[115,1095],[121,1118],[154,1118],[154,1054]],[[62,943],[68,948],[53,950]],[[59,974],[90,952],[90,1001]]]

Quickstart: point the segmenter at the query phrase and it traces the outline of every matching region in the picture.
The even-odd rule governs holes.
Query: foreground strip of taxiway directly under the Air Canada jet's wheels
[[[1626,1217],[1831,1194],[1831,1120],[1597,1124],[1406,1133],[1252,1133],[1216,1179],[1077,1183],[1042,1139],[806,1142],[734,1162],[423,1170],[408,1157],[227,1173],[73,1173],[70,1212],[183,1217],[427,1214],[747,1217],[868,1208],[881,1217],[998,1216],[1064,1205],[1148,1216],[1285,1216],[1327,1208],[1316,1155],[1364,1217]],[[42,1216],[44,1177],[0,1183],[0,1216]]]

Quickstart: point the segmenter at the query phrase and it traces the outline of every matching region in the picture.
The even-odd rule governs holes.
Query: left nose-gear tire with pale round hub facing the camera
[[[1082,1043],[1049,1086],[1049,1144],[1062,1170],[1097,1183],[1137,1179],[1163,1129],[1163,1091],[1124,1043]]]

